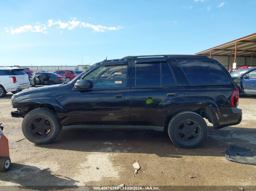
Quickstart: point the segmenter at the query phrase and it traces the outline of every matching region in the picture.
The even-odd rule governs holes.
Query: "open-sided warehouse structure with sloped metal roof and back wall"
[[[227,70],[232,69],[233,63],[236,63],[236,69],[241,66],[256,66],[256,33],[195,53],[195,55],[214,58]]]

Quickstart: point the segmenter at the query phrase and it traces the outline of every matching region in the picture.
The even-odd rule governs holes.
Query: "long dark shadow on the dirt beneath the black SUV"
[[[255,148],[255,134],[256,129],[251,128],[226,127],[214,131],[210,127],[208,137],[199,148],[182,149],[171,142],[167,132],[70,129],[62,131],[51,144],[35,146],[81,152],[146,153],[173,158],[181,158],[181,155],[223,157],[220,152],[230,145]]]

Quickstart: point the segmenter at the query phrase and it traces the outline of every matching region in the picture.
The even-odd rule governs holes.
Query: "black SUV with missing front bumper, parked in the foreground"
[[[36,144],[61,129],[165,128],[182,148],[198,147],[214,129],[241,122],[238,89],[217,60],[195,55],[127,56],[92,65],[70,82],[12,96],[22,131]]]

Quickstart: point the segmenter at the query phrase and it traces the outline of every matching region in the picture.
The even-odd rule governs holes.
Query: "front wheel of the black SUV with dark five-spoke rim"
[[[24,136],[35,144],[48,144],[59,135],[62,126],[56,113],[48,108],[30,111],[22,121]]]

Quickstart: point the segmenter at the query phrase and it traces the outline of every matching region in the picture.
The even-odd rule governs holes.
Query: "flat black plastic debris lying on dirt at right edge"
[[[229,149],[226,148],[225,157],[229,161],[245,164],[256,164],[256,152],[246,147],[242,148],[231,145]]]

